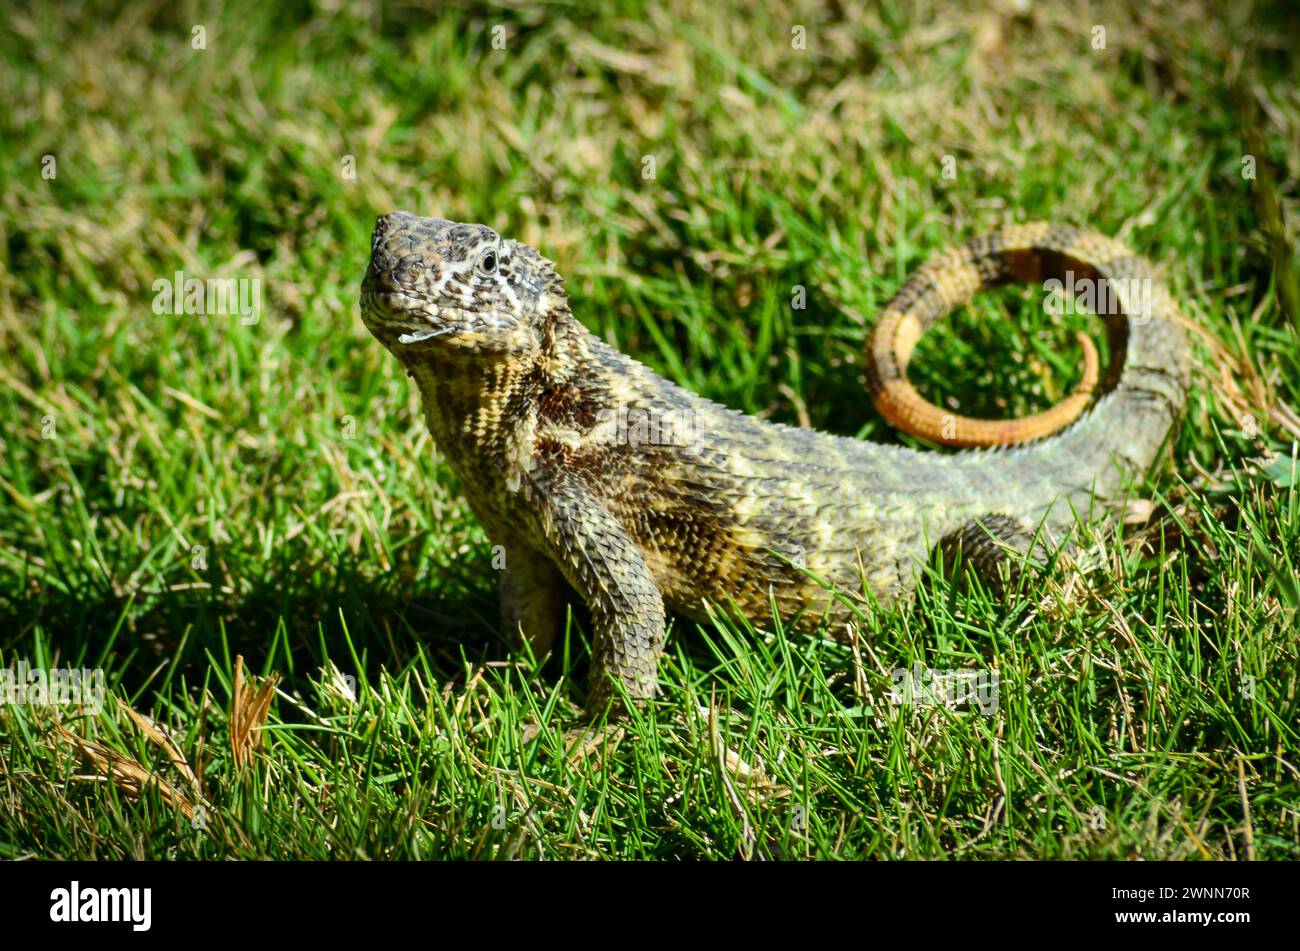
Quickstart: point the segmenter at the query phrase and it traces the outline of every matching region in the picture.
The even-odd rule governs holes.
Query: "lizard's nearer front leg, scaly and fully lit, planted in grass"
[[[529,482],[546,551],[592,611],[588,716],[618,699],[654,696],[664,640],[663,596],[640,548],[569,473],[542,469]]]

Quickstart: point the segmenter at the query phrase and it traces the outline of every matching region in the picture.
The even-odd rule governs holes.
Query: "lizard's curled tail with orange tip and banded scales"
[[[1105,379],[1098,379],[1096,348],[1080,334],[1083,381],[1041,413],[976,420],[928,403],[907,382],[916,340],[979,290],[1017,282],[1092,294],[1093,309],[1108,326]],[[928,261],[885,305],[867,347],[871,399],[905,433],[946,446],[1017,446],[1065,429],[1092,405],[1087,429],[1100,437],[1093,447],[1104,443],[1138,466],[1150,463],[1182,411],[1188,375],[1187,336],[1147,261],[1113,238],[1046,222],[992,231]],[[1106,425],[1119,431],[1102,431]]]

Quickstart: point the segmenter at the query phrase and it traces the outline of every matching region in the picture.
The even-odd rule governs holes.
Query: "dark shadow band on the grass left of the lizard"
[[[298,573],[290,565],[257,568],[238,594],[88,586],[0,594],[0,626],[10,631],[0,648],[6,664],[34,663],[31,652],[47,651],[53,664],[103,666],[109,683],[129,692],[161,677],[203,682],[209,655],[226,673],[243,655],[251,670],[276,669],[290,685],[328,661],[343,673],[360,663],[370,677],[381,668],[404,670],[421,656],[439,683],[459,682],[467,663],[510,656],[497,633],[490,572],[430,573],[412,592],[354,556]]]

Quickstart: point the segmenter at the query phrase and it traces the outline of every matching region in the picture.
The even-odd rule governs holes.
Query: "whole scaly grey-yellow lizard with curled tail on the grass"
[[[1098,282],[1112,365],[1058,408],[1018,421],[946,414],[907,385],[920,334],[982,287],[1052,277]],[[898,291],[868,346],[872,399],[956,455],[762,422],[658,377],[588,333],[554,265],[484,225],[382,216],[361,287],[367,326],[420,387],[429,430],[494,543],[506,548],[502,617],[545,653],[566,583],[593,621],[589,712],[653,695],[664,612],[771,598],[815,626],[909,596],[933,544],[989,581],[1113,500],[1182,409],[1187,340],[1147,264],[1069,226],[1017,225],[933,259]],[[1091,348],[1091,343],[1088,344]],[[1086,349],[1087,355],[1087,349]],[[1122,359],[1121,359],[1122,356]],[[1100,395],[1097,395],[1100,394]],[[1091,409],[1076,417],[1091,404]],[[1066,424],[1067,429],[1061,430]],[[1053,434],[1050,438],[1044,438]],[[811,576],[811,577],[810,577]]]

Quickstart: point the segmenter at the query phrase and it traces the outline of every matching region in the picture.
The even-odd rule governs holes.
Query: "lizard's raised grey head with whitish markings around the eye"
[[[361,316],[403,362],[437,348],[536,349],[552,309],[563,307],[555,266],[486,225],[407,212],[380,216],[374,225]]]

